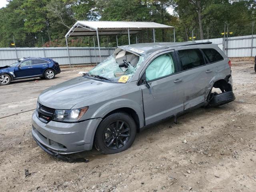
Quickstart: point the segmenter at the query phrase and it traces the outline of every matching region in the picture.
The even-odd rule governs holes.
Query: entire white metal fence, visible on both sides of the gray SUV
[[[196,40],[218,44],[228,57],[254,57],[256,35]],[[100,48],[101,61],[113,54],[115,48]],[[68,56],[69,52],[69,56]],[[48,48],[0,48],[0,66],[14,63],[22,57],[48,57],[61,65],[79,66],[100,62],[99,51],[94,47],[48,47]],[[70,60],[69,60],[70,59]]]

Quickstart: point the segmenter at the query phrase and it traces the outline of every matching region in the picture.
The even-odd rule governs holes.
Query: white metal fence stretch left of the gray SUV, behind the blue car
[[[101,61],[113,54],[114,50],[115,48],[101,48]],[[23,57],[47,57],[60,65],[71,66],[100,62],[99,51],[94,47],[69,47],[68,50],[66,47],[0,48],[0,66],[10,65],[16,62],[17,58]]]

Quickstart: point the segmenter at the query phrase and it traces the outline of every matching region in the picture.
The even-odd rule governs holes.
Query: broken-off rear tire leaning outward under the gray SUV
[[[209,106],[216,107],[232,102],[236,99],[232,91],[223,92],[220,94],[214,93],[212,99],[209,102]]]

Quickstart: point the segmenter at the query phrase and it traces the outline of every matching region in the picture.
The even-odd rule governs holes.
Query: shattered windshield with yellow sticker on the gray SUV
[[[90,70],[87,76],[107,80],[109,82],[126,83],[135,74],[146,56],[125,53],[111,55],[98,66]]]

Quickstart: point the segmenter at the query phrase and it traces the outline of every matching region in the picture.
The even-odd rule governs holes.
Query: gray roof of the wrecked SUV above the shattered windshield
[[[189,46],[189,45],[198,45],[198,44],[211,44],[212,42],[159,42],[159,43],[138,43],[138,44],[130,44],[124,46],[118,46],[118,48],[124,50],[130,50],[139,54],[151,54],[152,52],[162,50],[164,48],[174,48],[180,46]]]

